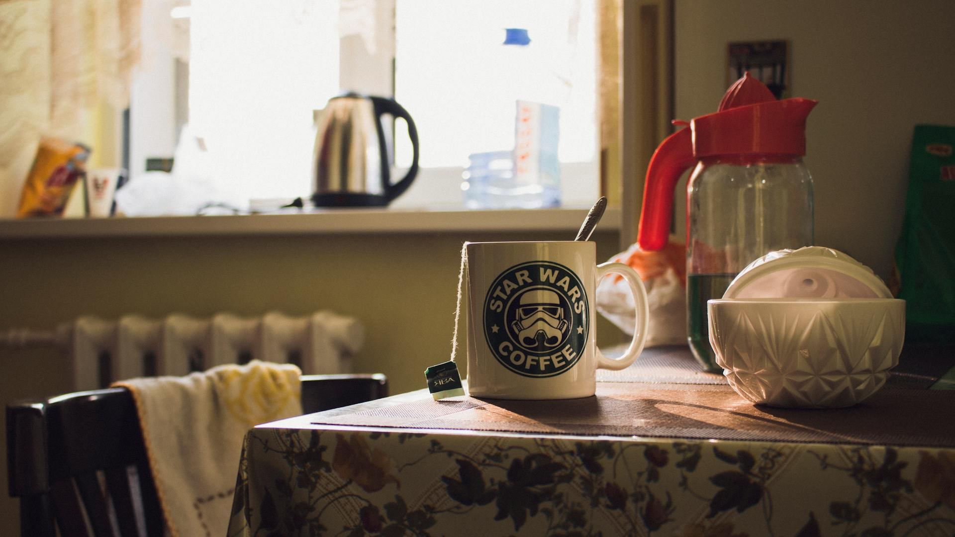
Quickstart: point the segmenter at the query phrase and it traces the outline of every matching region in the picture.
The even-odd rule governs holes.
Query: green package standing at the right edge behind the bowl
[[[916,125],[896,247],[905,338],[955,343],[955,127]]]

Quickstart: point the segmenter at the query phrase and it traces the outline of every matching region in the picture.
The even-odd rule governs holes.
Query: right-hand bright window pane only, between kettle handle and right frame
[[[516,99],[561,108],[564,204],[597,195],[597,52],[593,0],[533,2],[398,0],[395,98],[421,140],[420,182],[398,204],[460,204],[472,153],[514,147]],[[505,28],[527,46],[503,45]],[[410,143],[396,136],[397,164]],[[427,188],[423,186],[427,184]]]

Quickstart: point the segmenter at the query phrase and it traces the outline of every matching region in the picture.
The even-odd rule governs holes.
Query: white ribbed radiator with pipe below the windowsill
[[[252,359],[294,363],[305,375],[351,373],[351,356],[364,339],[359,321],[330,311],[303,317],[269,312],[261,317],[219,313],[211,318],[172,314],[106,320],[86,315],[55,331],[0,333],[0,345],[53,345],[65,351],[74,391],[136,376],[188,375]]]

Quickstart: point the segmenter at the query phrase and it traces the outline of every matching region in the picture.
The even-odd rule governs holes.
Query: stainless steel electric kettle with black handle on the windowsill
[[[381,117],[408,122],[413,158],[405,177],[392,183],[391,148]],[[332,97],[318,118],[313,153],[315,206],[382,206],[390,204],[414,181],[418,169],[418,138],[414,120],[393,99],[353,93]]]

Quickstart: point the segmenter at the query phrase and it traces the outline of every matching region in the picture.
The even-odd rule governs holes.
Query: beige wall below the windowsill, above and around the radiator
[[[396,394],[423,388],[424,368],[448,359],[463,241],[567,240],[572,234],[0,241],[0,330],[53,328],[84,313],[329,309],[365,323],[368,336],[355,369],[388,375]],[[598,259],[616,253],[615,232],[598,232],[595,240]],[[598,323],[602,344],[621,341],[615,327]],[[4,404],[69,391],[66,367],[55,351],[0,349]],[[6,440],[0,443],[5,452]],[[18,516],[5,492],[6,457],[0,457],[0,474],[0,535],[14,535],[16,527],[5,524]]]

